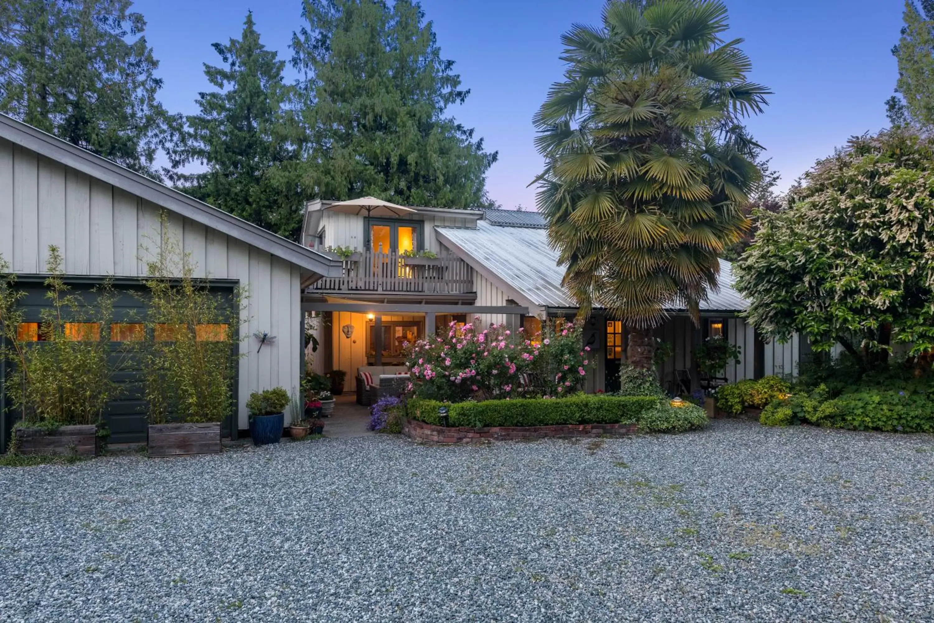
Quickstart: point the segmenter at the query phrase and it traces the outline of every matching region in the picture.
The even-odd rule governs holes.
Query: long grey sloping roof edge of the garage
[[[211,229],[243,240],[253,247],[262,248],[312,273],[321,276],[341,275],[341,261],[336,256],[331,257],[305,248],[244,219],[238,219],[233,214],[224,212],[213,205],[198,201],[184,192],[176,191],[149,177],[141,176],[87,149],[76,147],[2,113],[0,113],[0,137],[105,181],[111,186],[147,199],[155,205],[200,222]]]

